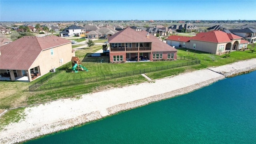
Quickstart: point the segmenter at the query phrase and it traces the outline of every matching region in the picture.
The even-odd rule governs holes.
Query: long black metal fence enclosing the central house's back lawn
[[[50,76],[47,76],[46,78],[40,80],[39,82],[36,82],[35,84],[29,86],[29,91],[40,91],[40,90],[49,90],[53,88],[60,88],[64,86],[72,86],[72,85],[77,85],[77,84],[85,84],[85,83],[90,83],[90,82],[97,82],[101,80],[110,80],[113,78],[121,78],[125,76],[134,76],[137,74],[145,74],[148,72],[156,72],[160,70],[166,70],[166,69],[172,69],[172,68],[178,68],[178,67],[183,67],[183,66],[191,66],[195,64],[200,64],[200,60],[197,58],[192,58],[189,56],[181,56],[177,58],[179,60],[188,60],[188,62],[182,62],[178,64],[171,64],[171,65],[165,65],[165,66],[157,66],[154,68],[145,68],[145,69],[140,69],[140,70],[133,70],[129,72],[119,72],[116,74],[107,74],[107,75],[100,75],[100,76],[94,76],[94,77],[88,77],[88,78],[80,78],[80,79],[75,79],[75,80],[68,80],[68,81],[62,81],[62,82],[56,82],[56,83],[50,83],[50,84],[44,84],[53,76],[56,76],[56,74],[60,73],[61,69],[58,70],[59,72],[55,72],[56,74],[53,75],[51,74]],[[70,64],[71,66],[71,64]],[[69,65],[66,66],[66,68],[70,67]]]

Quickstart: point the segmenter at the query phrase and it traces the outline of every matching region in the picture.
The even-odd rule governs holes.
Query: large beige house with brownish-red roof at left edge
[[[71,41],[58,36],[24,36],[0,49],[0,73],[2,78],[31,82],[67,62],[75,53]],[[24,80],[24,79],[23,79]]]

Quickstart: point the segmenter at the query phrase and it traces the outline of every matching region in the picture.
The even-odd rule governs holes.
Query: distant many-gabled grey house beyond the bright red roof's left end
[[[176,32],[194,32],[197,30],[197,27],[190,23],[181,24],[181,25],[172,25],[169,28],[172,30],[175,30]]]

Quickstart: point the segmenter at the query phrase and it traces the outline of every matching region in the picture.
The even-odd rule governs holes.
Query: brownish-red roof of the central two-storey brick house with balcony
[[[149,38],[146,38],[148,32],[136,31],[132,28],[125,28],[117,32],[116,34],[108,38],[108,43],[124,43],[124,42],[152,42],[152,51],[153,52],[163,52],[163,51],[174,51],[177,50],[172,46],[162,42],[157,37],[149,34]]]

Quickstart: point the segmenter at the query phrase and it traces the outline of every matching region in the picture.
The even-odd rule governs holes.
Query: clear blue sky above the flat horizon
[[[0,0],[0,21],[256,20],[256,0]]]

